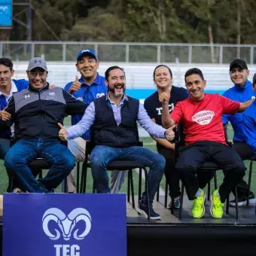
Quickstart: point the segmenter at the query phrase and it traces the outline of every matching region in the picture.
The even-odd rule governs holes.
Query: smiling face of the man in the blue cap
[[[99,69],[99,60],[94,59],[90,55],[83,55],[78,59],[78,63],[75,66],[84,80],[91,80],[96,78],[97,69]]]

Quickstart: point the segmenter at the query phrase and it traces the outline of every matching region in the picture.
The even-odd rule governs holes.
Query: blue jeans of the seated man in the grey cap
[[[49,172],[38,180],[32,175],[28,163],[37,157],[51,164]],[[75,157],[69,148],[56,140],[21,139],[16,142],[5,156],[8,175],[17,176],[21,189],[31,193],[46,193],[69,175],[75,166]]]

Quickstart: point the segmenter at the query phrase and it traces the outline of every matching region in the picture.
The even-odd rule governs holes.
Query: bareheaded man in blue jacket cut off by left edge
[[[11,59],[0,58],[0,111],[8,105],[13,93],[26,89],[29,81],[25,79],[14,80],[14,64]],[[0,159],[4,160],[10,148],[10,140],[14,127],[0,130]]]

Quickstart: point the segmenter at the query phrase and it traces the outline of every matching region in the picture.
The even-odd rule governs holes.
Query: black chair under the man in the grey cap
[[[65,145],[66,147],[68,146],[67,142],[61,142],[62,145]],[[11,146],[15,144],[15,141],[11,141]],[[42,178],[43,177],[43,173],[42,170],[43,169],[50,169],[51,164],[48,163],[46,160],[44,160],[41,157],[38,157],[34,160],[32,160],[29,163],[29,169],[38,169],[38,177]],[[9,189],[10,191],[14,190],[14,176],[11,176],[11,178],[9,179]],[[68,192],[68,184],[67,184],[67,178],[64,179],[64,192],[67,193]]]

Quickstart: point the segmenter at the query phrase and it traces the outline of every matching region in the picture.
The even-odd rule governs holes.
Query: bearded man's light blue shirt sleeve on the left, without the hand
[[[67,129],[68,139],[75,139],[79,136],[82,136],[87,130],[90,129],[90,126],[94,123],[95,120],[95,105],[94,102],[90,103],[82,119],[75,125],[70,126]]]

